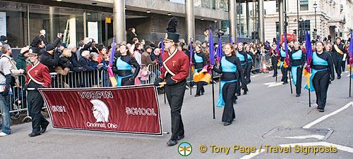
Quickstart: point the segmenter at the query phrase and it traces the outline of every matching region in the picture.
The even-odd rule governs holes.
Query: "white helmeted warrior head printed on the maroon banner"
[[[108,122],[109,109],[103,101],[93,99],[90,101],[93,104],[92,113],[95,116],[96,122]]]

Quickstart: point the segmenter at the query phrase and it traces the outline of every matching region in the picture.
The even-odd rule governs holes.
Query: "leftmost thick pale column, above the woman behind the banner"
[[[115,42],[126,41],[125,0],[113,0],[113,26]]]

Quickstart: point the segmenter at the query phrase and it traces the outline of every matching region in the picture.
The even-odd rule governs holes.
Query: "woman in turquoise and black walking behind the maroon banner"
[[[120,46],[121,56],[114,61],[112,70],[118,75],[116,86],[129,86],[135,84],[135,78],[140,72],[140,65],[136,59],[131,56],[130,51],[128,51],[128,46]],[[131,65],[135,68],[135,72],[131,72]]]

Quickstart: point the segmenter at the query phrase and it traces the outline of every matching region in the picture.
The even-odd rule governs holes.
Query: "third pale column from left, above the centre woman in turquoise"
[[[228,1],[228,15],[229,15],[229,31],[232,36],[232,41],[237,43],[237,10],[235,9],[235,0]]]

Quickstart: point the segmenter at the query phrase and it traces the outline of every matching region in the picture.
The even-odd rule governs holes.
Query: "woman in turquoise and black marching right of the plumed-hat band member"
[[[239,72],[241,87],[246,87],[244,79],[243,69],[241,68],[241,62],[237,58],[235,50],[232,44],[228,43],[225,45],[225,56],[220,61],[220,68],[214,68],[215,72],[222,73],[221,77],[221,88],[220,96],[217,101],[217,106],[225,106],[222,115],[222,122],[225,122],[225,126],[231,125],[235,118],[235,111],[233,108],[234,94],[237,90],[237,72]]]

